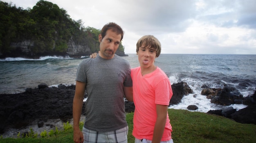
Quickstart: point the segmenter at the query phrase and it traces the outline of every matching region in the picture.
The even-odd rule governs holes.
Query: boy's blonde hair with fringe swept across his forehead
[[[142,36],[136,46],[136,53],[139,51],[139,47],[141,47],[144,44],[145,48],[149,48],[156,51],[156,57],[158,57],[161,53],[161,43],[158,41],[158,39],[153,35],[145,35]]]

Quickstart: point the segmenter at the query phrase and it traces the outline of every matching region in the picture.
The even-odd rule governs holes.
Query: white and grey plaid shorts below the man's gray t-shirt
[[[127,143],[128,126],[111,132],[97,132],[83,127],[83,143]]]

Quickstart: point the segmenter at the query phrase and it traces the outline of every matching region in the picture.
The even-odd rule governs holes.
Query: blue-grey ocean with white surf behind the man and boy
[[[131,68],[139,66],[136,54],[123,57]],[[0,94],[24,92],[26,88],[75,84],[76,69],[84,58],[40,57],[40,59],[0,59]],[[247,106],[233,104],[220,106],[201,95],[202,86],[234,87],[244,97],[253,95],[256,87],[256,55],[161,54],[155,60],[169,77],[171,84],[186,82],[193,94],[185,95],[181,103],[169,108],[187,110],[198,106],[197,112],[208,112],[233,107],[240,110]]]

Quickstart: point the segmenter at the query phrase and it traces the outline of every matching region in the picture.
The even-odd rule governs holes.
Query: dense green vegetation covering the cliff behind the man
[[[0,1],[0,57],[65,54],[70,41],[88,47],[88,54],[99,51],[99,29],[84,27],[82,20],[72,20],[65,9],[40,0],[31,9]],[[25,43],[27,47],[18,43]],[[18,45],[18,46],[17,46]],[[24,45],[24,44],[23,44]],[[70,51],[70,50],[69,50]],[[124,52],[120,44],[119,51]]]

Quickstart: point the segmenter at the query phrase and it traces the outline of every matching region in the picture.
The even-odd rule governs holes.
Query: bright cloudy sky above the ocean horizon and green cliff
[[[23,9],[39,0],[1,0]],[[124,52],[136,53],[144,35],[161,42],[161,53],[256,54],[256,0],[46,0],[83,26],[108,22],[124,30]]]

